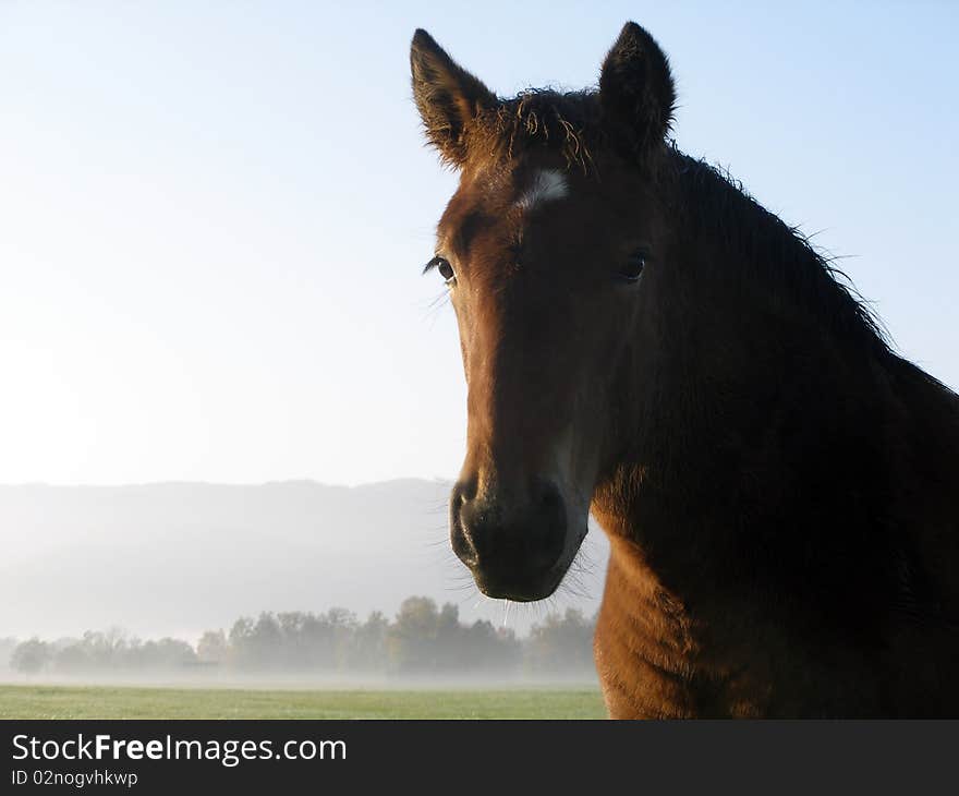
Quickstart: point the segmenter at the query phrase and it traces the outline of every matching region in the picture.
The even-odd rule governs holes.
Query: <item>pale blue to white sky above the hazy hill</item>
[[[765,5],[0,0],[0,482],[458,471],[417,26],[512,94],[594,83],[645,25],[680,145],[855,255],[959,385],[959,7]]]

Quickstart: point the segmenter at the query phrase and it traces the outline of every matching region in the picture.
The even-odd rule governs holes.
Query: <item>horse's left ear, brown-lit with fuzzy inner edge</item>
[[[416,31],[413,36],[410,69],[426,137],[444,160],[462,166],[470,124],[482,110],[496,105],[496,95],[453,61],[426,31]]]

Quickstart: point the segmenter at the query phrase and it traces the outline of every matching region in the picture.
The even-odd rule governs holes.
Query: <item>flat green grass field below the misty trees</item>
[[[598,690],[0,686],[0,719],[605,719]]]

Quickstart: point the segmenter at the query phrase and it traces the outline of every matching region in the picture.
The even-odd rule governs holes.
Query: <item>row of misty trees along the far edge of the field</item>
[[[295,672],[344,675],[575,676],[593,671],[594,619],[568,608],[520,638],[486,620],[460,622],[451,603],[403,601],[392,620],[375,611],[360,622],[345,608],[325,613],[264,612],[229,631],[142,641],[120,630],[78,639],[7,641],[9,665],[24,674],[93,674],[172,670]],[[0,647],[3,644],[0,643]]]

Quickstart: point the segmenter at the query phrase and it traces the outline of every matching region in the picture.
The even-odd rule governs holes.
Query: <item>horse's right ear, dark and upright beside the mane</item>
[[[630,160],[663,142],[676,89],[669,59],[655,39],[628,22],[599,73],[599,105],[614,145]]]

